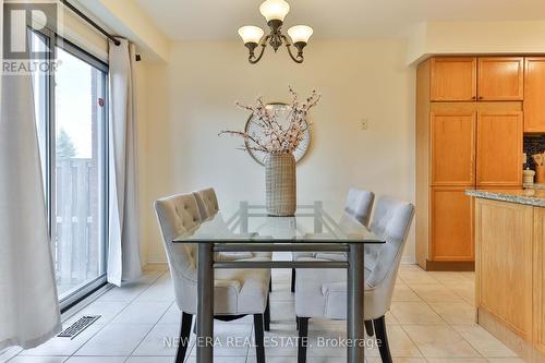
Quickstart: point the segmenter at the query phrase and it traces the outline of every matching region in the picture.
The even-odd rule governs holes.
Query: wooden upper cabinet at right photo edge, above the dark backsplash
[[[524,132],[545,133],[545,57],[524,61]]]

